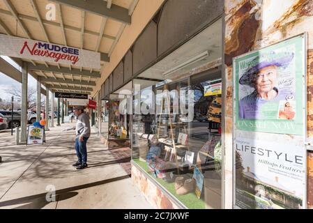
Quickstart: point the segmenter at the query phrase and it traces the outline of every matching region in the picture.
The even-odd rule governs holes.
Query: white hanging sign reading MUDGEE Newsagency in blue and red
[[[3,56],[100,69],[100,53],[0,34]]]

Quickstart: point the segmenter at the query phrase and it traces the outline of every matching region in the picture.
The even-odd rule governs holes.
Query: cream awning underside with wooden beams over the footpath
[[[137,3],[138,0],[1,0],[0,33],[49,43],[54,49],[61,45],[100,54],[100,68],[88,63],[76,66],[12,57],[19,64],[26,62],[29,72],[41,77],[52,91],[91,93],[123,29],[131,24]]]

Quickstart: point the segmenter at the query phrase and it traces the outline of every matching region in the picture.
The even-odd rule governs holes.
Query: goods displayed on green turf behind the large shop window
[[[134,114],[132,159],[188,208],[221,208],[221,91],[205,91],[220,82],[194,75],[134,95],[134,109],[155,113]]]

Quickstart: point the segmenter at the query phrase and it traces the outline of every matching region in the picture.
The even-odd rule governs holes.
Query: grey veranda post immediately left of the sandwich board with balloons
[[[27,63],[22,62],[22,112],[21,112],[21,142],[26,142],[27,137],[27,84],[28,84],[28,68]]]

